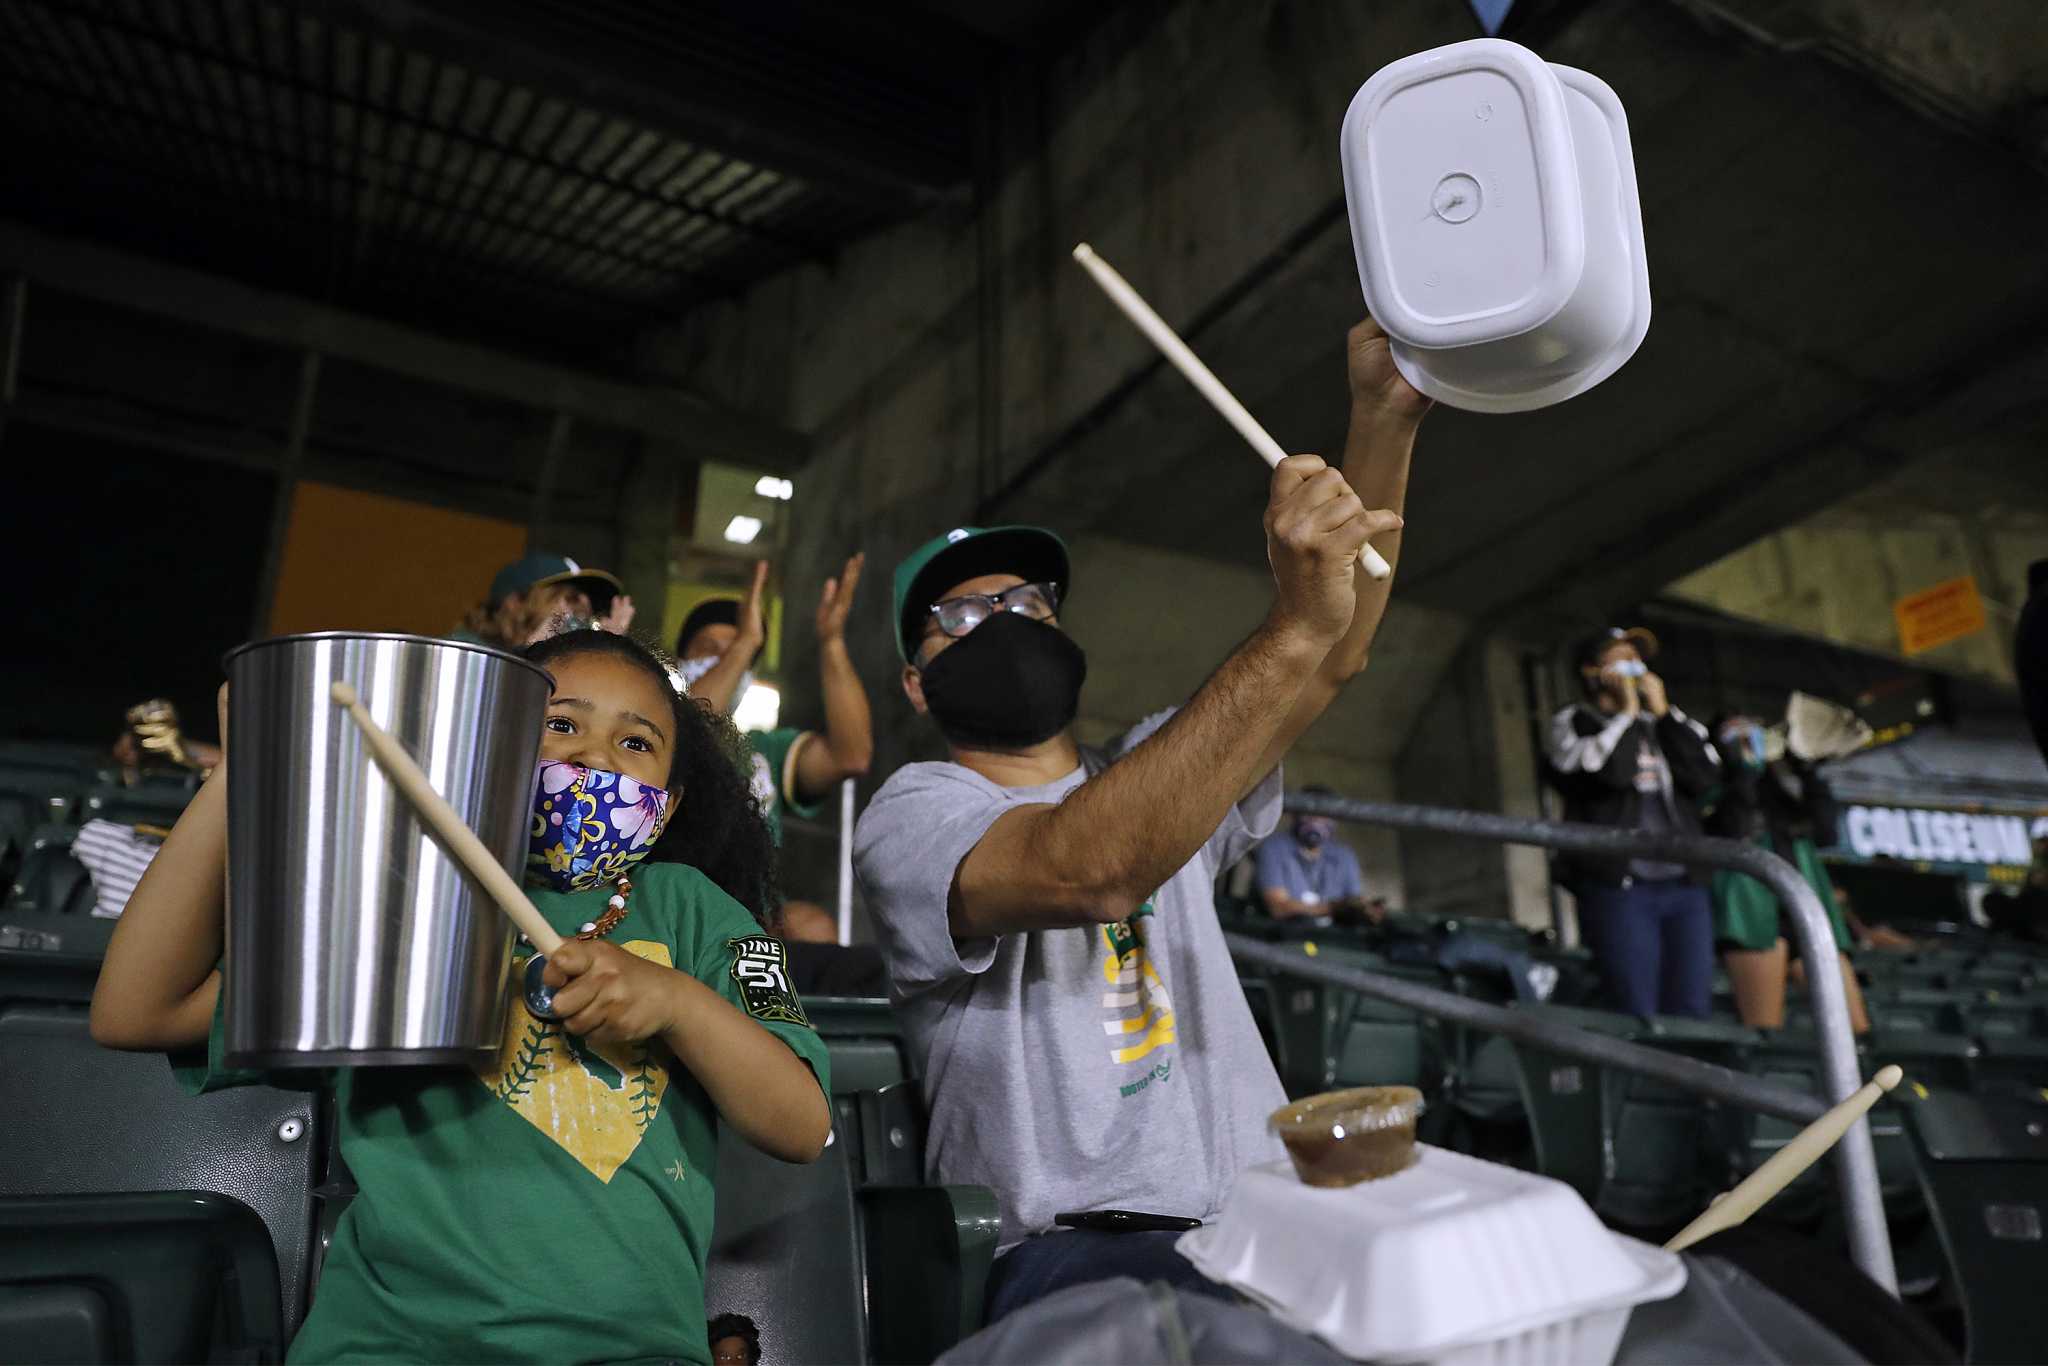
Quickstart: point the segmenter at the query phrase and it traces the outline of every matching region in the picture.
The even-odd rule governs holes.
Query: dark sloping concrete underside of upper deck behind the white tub
[[[1559,408],[1432,414],[1407,600],[1524,629],[1597,614],[1915,457],[1952,451],[1991,479],[2044,463],[2048,176],[2007,125],[1933,119],[1898,82],[1812,43],[1782,51],[1686,8],[1702,6],[1583,6],[1540,43],[1628,109],[1651,334],[1614,379]],[[1952,23],[1948,37],[2048,51],[2040,10],[1993,8],[2005,18]],[[2038,63],[1995,76],[2005,98],[2048,88]],[[1970,94],[1974,109],[1993,100]],[[1337,201],[1202,319],[1196,344],[1282,444],[1333,451],[1343,381],[1329,338],[1358,313]],[[993,512],[1253,565],[1264,547],[1243,508],[1262,489],[1237,438],[1153,371]]]

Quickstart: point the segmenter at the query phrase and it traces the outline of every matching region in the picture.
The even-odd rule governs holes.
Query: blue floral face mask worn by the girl
[[[666,811],[668,788],[608,768],[541,760],[526,877],[557,891],[604,887],[647,858]]]

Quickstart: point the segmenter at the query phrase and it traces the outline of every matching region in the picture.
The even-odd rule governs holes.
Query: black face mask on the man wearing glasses
[[[920,670],[924,702],[956,745],[1026,750],[1067,729],[1087,655],[1053,625],[995,612]]]

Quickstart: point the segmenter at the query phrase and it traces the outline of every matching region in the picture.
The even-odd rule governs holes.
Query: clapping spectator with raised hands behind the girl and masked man
[[[748,731],[754,750],[754,799],[768,817],[768,829],[782,844],[782,811],[801,817],[817,813],[844,778],[868,772],[874,758],[874,723],[868,694],[846,651],[846,614],[854,606],[862,555],[846,561],[840,578],[825,580],[817,598],[817,674],[825,698],[825,731],[776,727]],[[754,586],[745,598],[698,602],[676,633],[676,672],[690,696],[723,713],[739,709],[754,682],[754,657],[768,641],[762,592],[768,561],[754,565]]]

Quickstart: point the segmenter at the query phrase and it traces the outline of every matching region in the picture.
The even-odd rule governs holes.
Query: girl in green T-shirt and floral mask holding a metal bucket
[[[510,993],[487,1063],[334,1073],[358,1194],[293,1362],[709,1366],[721,1120],[784,1161],[831,1126],[825,1049],[764,928],[774,848],[739,735],[627,637],[569,631],[526,657],[553,678],[526,895],[573,936],[547,961],[553,1018]],[[203,1049],[190,1090],[262,1079],[221,1055],[227,762],[137,885],[92,999],[102,1044]]]

